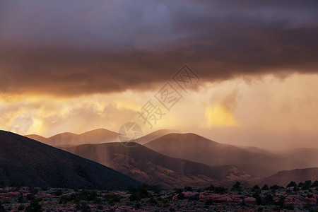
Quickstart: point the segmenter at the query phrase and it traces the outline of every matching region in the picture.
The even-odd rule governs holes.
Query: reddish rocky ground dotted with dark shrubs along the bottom
[[[318,187],[158,187],[127,191],[5,187],[0,211],[318,211]]]

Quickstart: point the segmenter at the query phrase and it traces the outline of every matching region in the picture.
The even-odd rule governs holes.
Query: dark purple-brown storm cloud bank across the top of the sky
[[[204,81],[317,73],[317,1],[1,1],[0,93],[149,89],[187,63]]]

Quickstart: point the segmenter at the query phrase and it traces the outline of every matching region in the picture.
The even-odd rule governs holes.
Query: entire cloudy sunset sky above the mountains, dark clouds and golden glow
[[[318,148],[317,35],[317,1],[0,1],[0,129]]]

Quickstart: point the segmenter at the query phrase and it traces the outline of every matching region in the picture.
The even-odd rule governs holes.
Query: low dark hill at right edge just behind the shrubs
[[[275,175],[264,178],[263,184],[278,184],[285,187],[290,181],[300,183],[306,180],[311,180],[312,182],[318,180],[318,167],[281,171]]]

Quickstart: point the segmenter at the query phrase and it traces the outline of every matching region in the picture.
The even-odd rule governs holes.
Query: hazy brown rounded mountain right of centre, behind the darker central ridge
[[[235,165],[252,177],[268,177],[281,170],[306,166],[306,163],[281,155],[217,143],[196,134],[167,134],[145,146],[173,158],[210,166]]]

